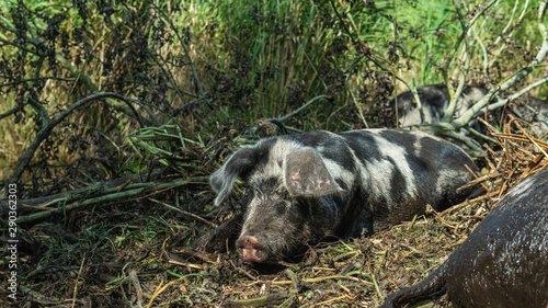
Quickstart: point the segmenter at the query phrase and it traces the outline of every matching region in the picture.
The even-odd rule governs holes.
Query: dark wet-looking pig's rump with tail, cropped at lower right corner
[[[444,293],[454,307],[548,306],[548,170],[511,190],[447,261],[383,307]]]

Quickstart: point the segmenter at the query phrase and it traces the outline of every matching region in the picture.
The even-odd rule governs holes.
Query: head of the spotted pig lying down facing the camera
[[[331,163],[313,148],[285,139],[266,139],[237,151],[212,174],[222,203],[240,178],[251,194],[236,247],[253,262],[275,262],[318,241],[336,225],[338,193]]]

